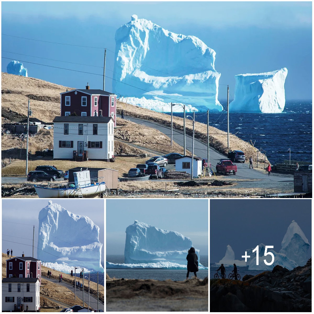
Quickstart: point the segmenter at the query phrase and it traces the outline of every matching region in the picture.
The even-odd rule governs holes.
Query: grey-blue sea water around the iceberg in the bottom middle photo
[[[124,263],[124,255],[106,255],[106,261],[110,263]],[[200,255],[200,263],[208,267],[208,255]],[[172,281],[183,281],[187,277],[187,270],[185,269],[106,269],[109,277],[126,278],[126,279],[155,279]],[[197,272],[200,279],[208,276],[208,269],[200,269]],[[189,278],[194,277],[190,273]]]

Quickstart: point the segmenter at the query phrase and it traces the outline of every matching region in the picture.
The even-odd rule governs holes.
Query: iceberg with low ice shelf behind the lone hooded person
[[[124,264],[106,262],[106,268],[187,269],[187,254],[192,240],[176,231],[156,228],[134,221],[126,229]],[[208,269],[200,263],[199,269]]]

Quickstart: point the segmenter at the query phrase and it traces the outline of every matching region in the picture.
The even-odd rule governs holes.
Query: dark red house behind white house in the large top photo
[[[102,116],[112,117],[116,127],[116,97],[113,93],[101,89],[73,89],[60,93],[61,116],[69,116],[76,113],[78,116]]]

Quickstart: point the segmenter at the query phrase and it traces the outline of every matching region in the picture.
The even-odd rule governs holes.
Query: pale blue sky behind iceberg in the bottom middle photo
[[[208,255],[207,199],[107,199],[106,255],[124,255],[125,230],[134,220],[177,231]]]

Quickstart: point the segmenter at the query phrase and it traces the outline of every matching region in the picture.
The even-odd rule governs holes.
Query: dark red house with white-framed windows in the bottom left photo
[[[41,261],[34,257],[12,257],[7,262],[7,278],[38,278],[41,285]]]

